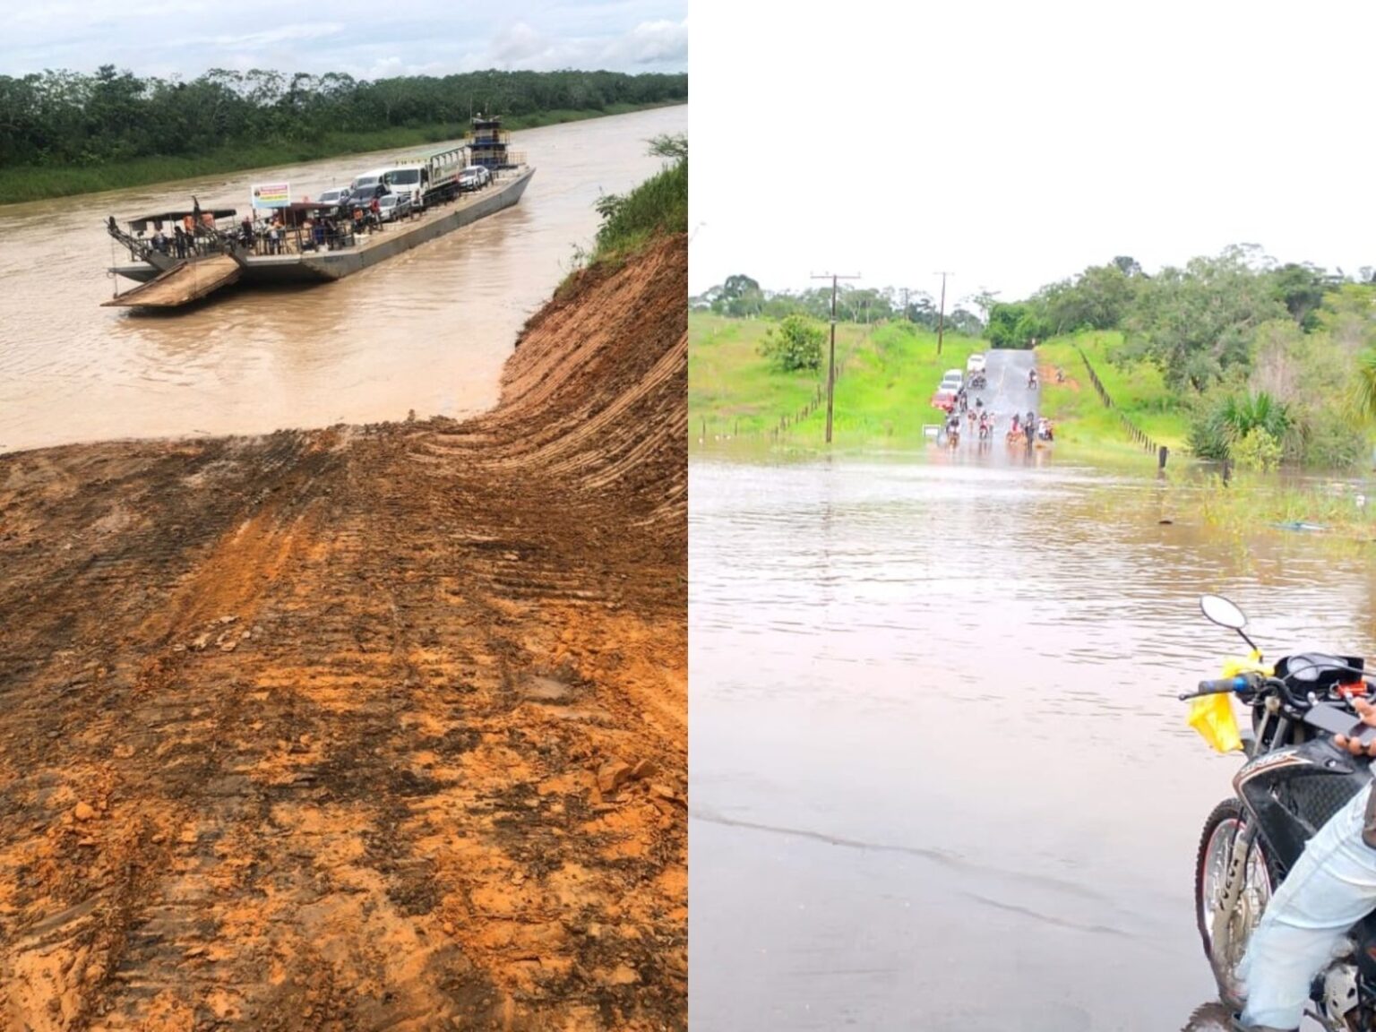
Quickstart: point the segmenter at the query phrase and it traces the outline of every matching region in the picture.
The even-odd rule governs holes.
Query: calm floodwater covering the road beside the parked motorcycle
[[[1212,996],[1193,864],[1237,760],[1176,694],[1241,643],[1197,597],[1271,656],[1372,655],[1376,579],[1181,490],[963,446],[691,462],[695,1032],[1160,1032]]]

